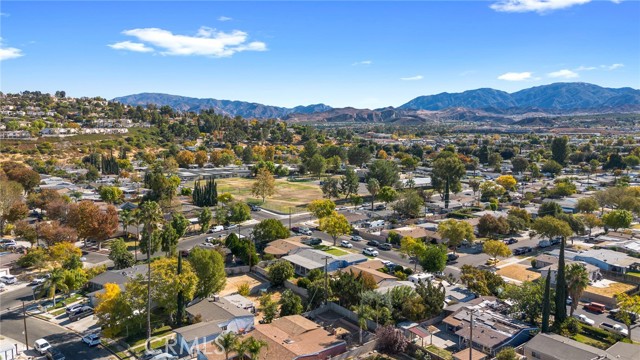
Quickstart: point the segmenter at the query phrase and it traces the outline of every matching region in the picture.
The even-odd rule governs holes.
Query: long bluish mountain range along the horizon
[[[216,112],[244,118],[281,118],[292,122],[397,122],[426,118],[492,120],[513,114],[571,114],[640,111],[640,90],[605,88],[588,83],[554,83],[514,93],[482,88],[461,93],[419,96],[397,108],[332,108],[325,104],[293,108],[258,103],[198,99],[160,93],[141,93],[113,99],[123,104],[168,105],[179,111]]]

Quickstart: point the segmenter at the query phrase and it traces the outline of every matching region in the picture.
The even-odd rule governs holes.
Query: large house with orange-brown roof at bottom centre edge
[[[342,354],[347,344],[337,335],[300,315],[284,316],[270,324],[258,324],[246,336],[267,343],[260,358],[279,360],[324,360]],[[220,360],[224,354],[211,354],[209,360]]]

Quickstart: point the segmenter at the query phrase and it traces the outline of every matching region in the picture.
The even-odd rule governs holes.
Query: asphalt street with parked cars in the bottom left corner
[[[0,314],[0,334],[11,339],[25,342],[24,320],[22,310],[14,310]],[[52,346],[57,347],[67,360],[103,360],[112,358],[109,351],[101,345],[90,348],[82,342],[80,336],[64,327],[27,317],[27,335],[29,340],[28,355],[37,356],[33,348],[35,340],[44,338]],[[42,357],[44,359],[44,357]]]

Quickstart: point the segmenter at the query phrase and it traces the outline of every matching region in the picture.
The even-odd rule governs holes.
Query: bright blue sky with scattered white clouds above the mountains
[[[559,81],[640,88],[640,2],[0,2],[0,88],[398,106]]]

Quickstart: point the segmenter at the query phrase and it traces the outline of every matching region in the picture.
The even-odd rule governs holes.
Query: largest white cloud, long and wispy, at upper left
[[[267,50],[267,45],[261,41],[247,42],[249,36],[244,31],[224,32],[206,26],[198,29],[195,36],[177,35],[159,28],[131,29],[122,33],[142,43],[130,44],[141,44],[144,48],[154,46],[162,55],[228,57],[241,51]],[[136,49],[125,50],[140,51],[142,48],[136,45]]]

